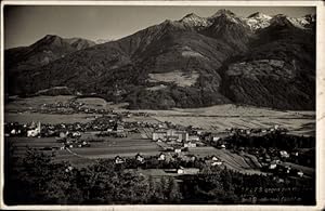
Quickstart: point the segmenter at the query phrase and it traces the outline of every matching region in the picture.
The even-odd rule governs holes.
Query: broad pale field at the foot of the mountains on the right
[[[280,126],[292,134],[315,135],[314,111],[280,111],[251,106],[219,105],[197,109],[157,111],[159,121],[193,126],[218,132],[230,128],[270,128]]]

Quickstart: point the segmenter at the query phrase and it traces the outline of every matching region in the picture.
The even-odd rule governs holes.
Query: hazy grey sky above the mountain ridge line
[[[306,6],[5,5],[4,48],[29,45],[46,35],[118,39],[165,19],[180,19],[192,12],[207,17],[220,9],[238,16],[255,12],[291,17],[315,13],[315,8]]]

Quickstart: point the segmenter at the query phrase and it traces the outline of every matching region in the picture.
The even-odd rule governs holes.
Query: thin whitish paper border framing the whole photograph
[[[3,5],[187,5],[187,6],[316,6],[316,206],[6,206],[3,203],[3,97],[0,100],[0,208],[6,210],[322,210],[325,209],[325,6],[323,1],[2,1],[1,2],[1,96],[3,96]],[[301,52],[303,53],[303,52]],[[322,188],[323,187],[323,188]]]

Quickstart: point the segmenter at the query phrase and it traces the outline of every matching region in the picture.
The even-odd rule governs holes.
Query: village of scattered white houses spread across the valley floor
[[[235,143],[235,139],[264,137],[272,134],[286,134],[288,131],[280,126],[263,129],[230,128],[218,133],[205,131],[200,128],[182,127],[171,122],[145,122],[125,121],[131,114],[113,113],[101,114],[95,120],[81,123],[41,123],[30,122],[21,124],[17,122],[4,123],[5,137],[46,139],[54,137],[52,145],[38,147],[44,151],[68,151],[82,157],[80,151],[95,148],[112,148],[108,159],[114,159],[116,166],[141,169],[156,169],[153,175],[183,175],[200,173],[204,167],[230,168],[243,172],[274,174],[286,176],[311,176],[314,171],[310,153],[303,153],[299,148],[283,149],[281,147],[251,147]],[[134,114],[132,114],[134,115]],[[147,114],[139,114],[147,116]],[[122,141],[132,142],[136,137],[155,145],[150,153],[114,151]],[[135,142],[136,139],[133,141]],[[30,142],[32,145],[32,142]],[[126,149],[128,150],[128,149]],[[136,149],[135,149],[136,150]],[[108,151],[108,150],[107,150]],[[83,157],[87,157],[87,153]],[[105,154],[103,151],[102,154]],[[302,163],[302,164],[301,164]],[[309,167],[303,167],[309,166]],[[303,168],[301,168],[303,167]],[[283,179],[280,179],[281,181]]]

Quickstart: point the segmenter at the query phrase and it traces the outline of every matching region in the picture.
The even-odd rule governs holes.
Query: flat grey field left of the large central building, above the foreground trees
[[[114,139],[96,137],[95,133],[84,133],[82,134],[82,139],[91,139],[93,141],[103,140],[103,142],[90,142],[91,146],[84,148],[55,150],[55,160],[82,164],[84,160],[114,158],[117,155],[121,157],[134,157],[140,153],[143,156],[156,156],[160,150],[160,147],[156,143],[142,139],[140,134],[132,134],[125,139]],[[62,143],[57,143],[55,137],[9,137],[8,141],[16,146],[16,156],[23,156],[26,153],[26,146],[39,149],[62,146]]]

